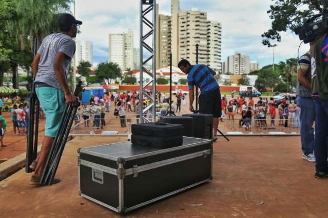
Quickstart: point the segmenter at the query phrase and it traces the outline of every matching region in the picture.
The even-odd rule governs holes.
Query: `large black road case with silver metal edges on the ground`
[[[167,149],[121,142],[79,148],[79,194],[125,213],[212,179],[211,140]]]

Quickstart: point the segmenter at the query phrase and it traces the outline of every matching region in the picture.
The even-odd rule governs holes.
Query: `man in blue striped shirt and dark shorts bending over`
[[[214,78],[216,72],[204,64],[191,66],[188,60],[182,59],[178,67],[187,74],[189,85],[189,110],[194,112],[194,86],[201,90],[199,96],[199,112],[213,115],[213,140],[217,140],[219,117],[221,117],[221,94],[219,84]]]

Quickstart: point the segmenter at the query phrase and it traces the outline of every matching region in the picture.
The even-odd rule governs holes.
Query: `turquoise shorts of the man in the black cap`
[[[64,92],[53,87],[37,87],[35,91],[46,115],[46,136],[55,137],[66,107]]]

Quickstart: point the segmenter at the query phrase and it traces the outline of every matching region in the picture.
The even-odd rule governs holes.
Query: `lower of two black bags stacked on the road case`
[[[170,148],[181,146],[183,142],[182,135],[170,137],[131,135],[132,144],[155,148]]]

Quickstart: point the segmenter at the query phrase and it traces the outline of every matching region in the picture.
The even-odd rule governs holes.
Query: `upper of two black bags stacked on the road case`
[[[139,123],[131,125],[132,135],[171,137],[182,136],[183,125],[169,123]]]

